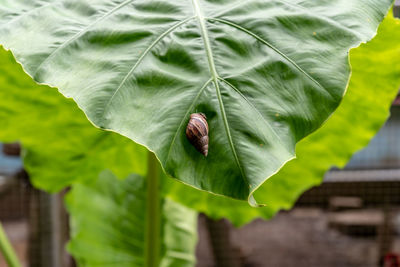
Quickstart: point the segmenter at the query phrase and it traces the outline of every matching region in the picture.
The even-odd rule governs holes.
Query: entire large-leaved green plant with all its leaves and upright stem
[[[35,84],[1,52],[0,139],[21,141],[37,187],[72,185],[69,249],[83,266],[190,266],[194,213],[176,202],[236,225],[289,208],[367,144],[400,83],[399,25],[391,16],[375,40],[351,51],[348,82],[349,49],[373,37],[391,1],[0,3],[0,43],[37,82],[72,97],[98,127],[154,151],[167,175],[239,199],[160,179],[144,147],[94,128],[71,100]],[[300,141],[346,89],[337,112]],[[208,157],[185,137],[196,111],[210,125]],[[297,159],[281,169],[299,141]],[[98,178],[104,169],[147,179]],[[255,206],[256,189],[267,207],[240,201]]]

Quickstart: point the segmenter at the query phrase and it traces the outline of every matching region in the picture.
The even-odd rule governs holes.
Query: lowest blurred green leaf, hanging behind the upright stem
[[[145,266],[146,185],[137,175],[117,180],[102,173],[92,185],[74,185],[66,197],[72,239],[68,250],[80,266]],[[162,202],[160,267],[195,264],[197,214]]]

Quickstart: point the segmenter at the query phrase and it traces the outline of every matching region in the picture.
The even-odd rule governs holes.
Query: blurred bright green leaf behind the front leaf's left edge
[[[1,47],[0,47],[1,48]],[[37,85],[0,49],[0,140],[20,141],[36,187],[56,192],[91,181],[104,169],[119,177],[146,172],[146,150],[94,128],[73,101]]]

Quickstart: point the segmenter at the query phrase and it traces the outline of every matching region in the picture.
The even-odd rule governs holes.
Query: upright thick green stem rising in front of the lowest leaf
[[[148,152],[147,163],[147,229],[145,258],[146,267],[158,267],[160,261],[160,172],[157,158]]]

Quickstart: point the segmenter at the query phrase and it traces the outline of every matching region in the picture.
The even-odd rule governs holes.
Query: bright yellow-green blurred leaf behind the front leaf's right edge
[[[344,167],[366,146],[389,117],[400,86],[400,21],[388,15],[378,35],[350,53],[352,76],[348,91],[333,116],[321,129],[297,146],[297,158],[265,182],[255,197],[267,203],[250,208],[241,201],[216,197],[171,185],[170,196],[214,218],[227,217],[242,225],[256,217],[270,218],[289,209],[305,190],[322,182],[333,166]]]

